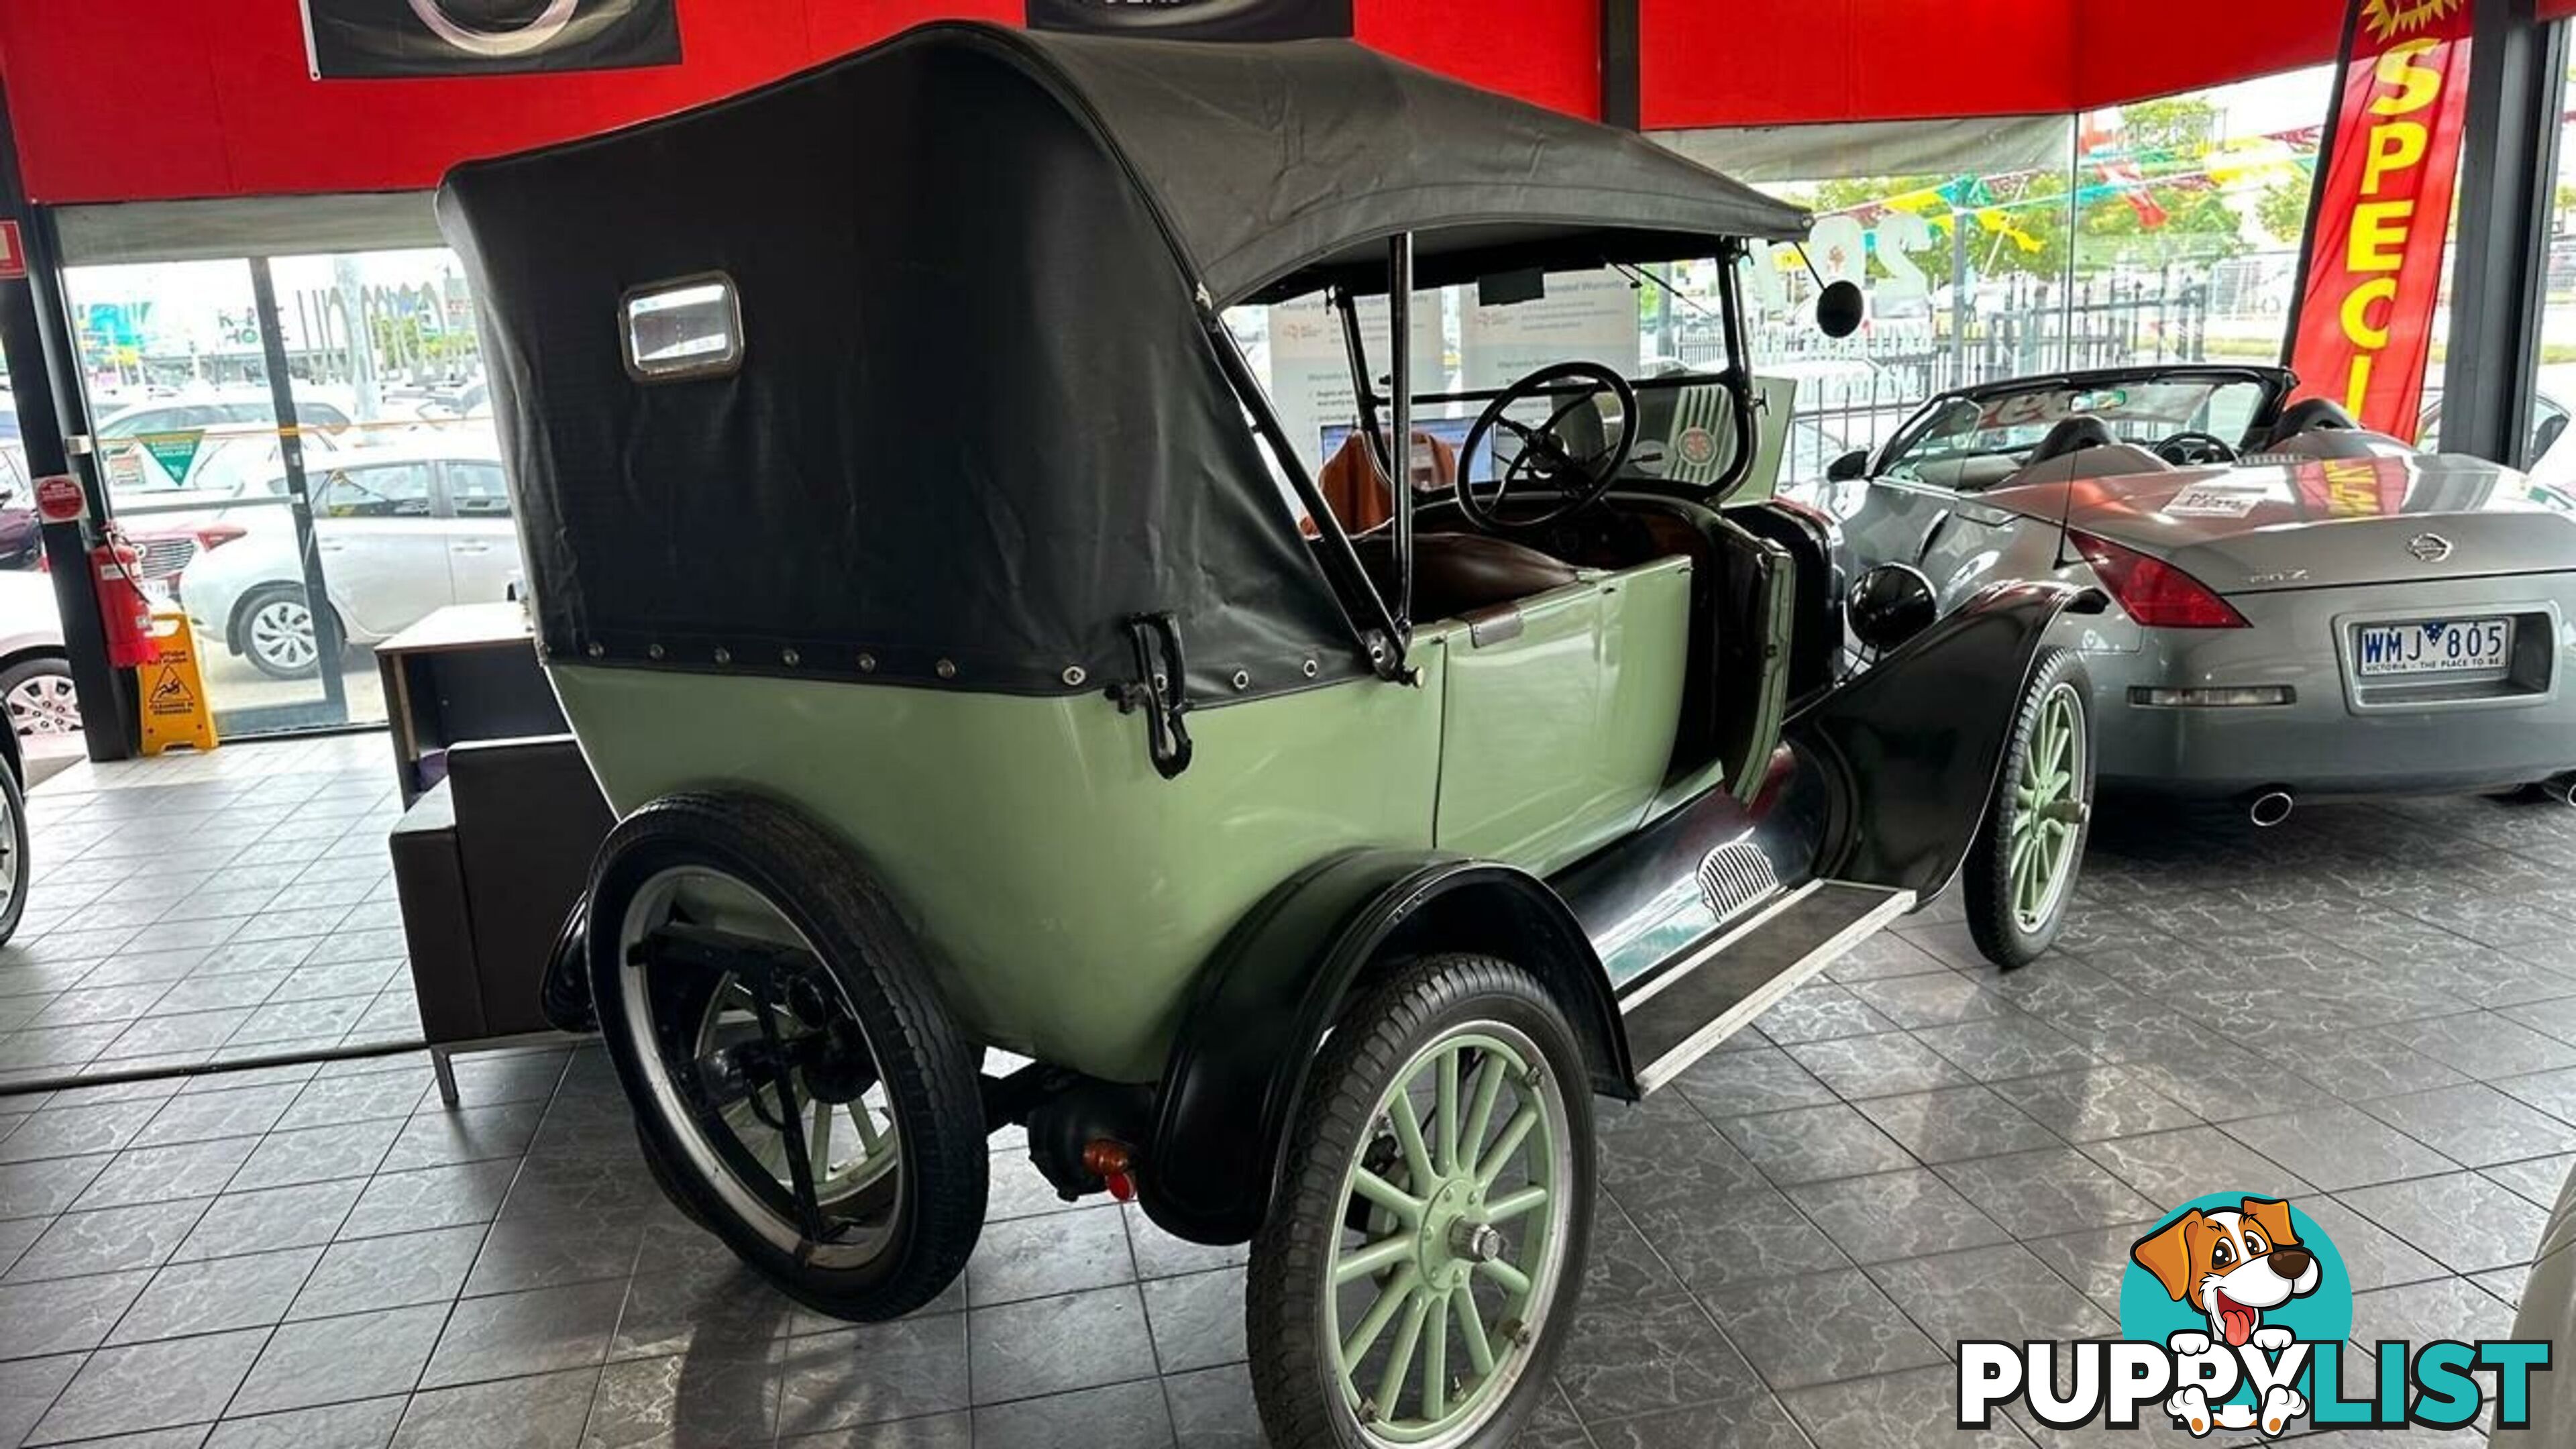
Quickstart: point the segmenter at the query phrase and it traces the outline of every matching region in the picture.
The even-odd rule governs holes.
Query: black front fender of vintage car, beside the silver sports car
[[[1968,856],[2048,627],[2099,593],[1994,585],[1788,724],[1837,781],[1819,874],[1929,900]]]

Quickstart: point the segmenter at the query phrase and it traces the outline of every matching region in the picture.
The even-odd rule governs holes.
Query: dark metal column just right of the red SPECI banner
[[[2530,462],[2566,54],[2566,26],[2540,26],[2532,0],[2478,0],[2442,364],[2447,454]]]

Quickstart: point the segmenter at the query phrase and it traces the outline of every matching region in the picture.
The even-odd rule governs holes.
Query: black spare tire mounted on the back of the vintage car
[[[837,1011],[855,1021],[881,1067],[899,1171],[876,1186],[884,1248],[850,1266],[811,1261],[744,1217],[701,1168],[706,1137],[672,1122],[639,1052],[626,1000],[621,933],[636,895],[672,869],[721,871],[765,897],[822,959]],[[647,987],[652,990],[652,982]],[[708,987],[708,995],[714,987]],[[590,877],[590,1000],[644,1137],[647,1168],[680,1204],[781,1292],[848,1320],[886,1320],[935,1299],[984,1227],[987,1158],[976,1052],[933,990],[930,967],[866,866],[796,810],[752,797],[672,794],[629,815],[600,846]],[[654,1008],[659,1016],[659,1008]],[[685,1011],[685,1003],[677,1008]]]

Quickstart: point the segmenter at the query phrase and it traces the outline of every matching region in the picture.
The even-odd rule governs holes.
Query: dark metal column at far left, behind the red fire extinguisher
[[[0,217],[18,222],[26,263],[26,278],[0,281],[0,353],[8,358],[10,394],[18,405],[28,482],[72,474],[90,498],[90,518],[106,518],[108,495],[98,456],[72,456],[64,443],[90,431],[88,405],[80,397],[80,356],[62,302],[54,224],[28,201],[18,175],[18,137],[8,121],[5,93],[0,93]],[[93,761],[134,758],[134,683],[126,670],[108,668],[108,634],[98,590],[90,585],[95,523],[46,523],[41,539],[44,562],[54,575],[54,608],[62,614],[72,688],[80,691],[82,743]]]

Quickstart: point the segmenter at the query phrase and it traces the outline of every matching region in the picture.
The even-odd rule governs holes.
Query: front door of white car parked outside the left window
[[[384,639],[453,601],[428,462],[335,467],[314,487],[314,549],[355,639]]]

